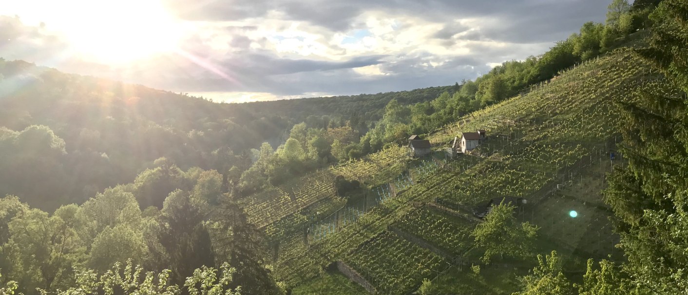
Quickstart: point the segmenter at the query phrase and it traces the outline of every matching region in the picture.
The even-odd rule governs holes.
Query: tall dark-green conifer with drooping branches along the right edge
[[[688,289],[688,3],[665,0],[651,14],[649,47],[638,54],[664,79],[641,83],[631,97],[616,101],[622,110],[621,151],[629,162],[612,174],[605,201],[616,216],[634,285],[651,294]]]

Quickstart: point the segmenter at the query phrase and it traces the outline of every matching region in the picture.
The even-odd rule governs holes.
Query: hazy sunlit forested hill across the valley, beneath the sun
[[[52,211],[59,205],[83,203],[107,187],[129,183],[161,157],[184,170],[201,167],[222,174],[233,166],[246,170],[251,164],[250,149],[264,142],[277,148],[288,139],[294,124],[308,121],[319,129],[336,128],[358,112],[360,130],[356,131],[365,133],[367,125],[382,116],[389,100],[418,103],[446,90],[451,88],[212,103],[0,59],[0,141],[4,142],[0,143],[0,196],[17,195],[34,207]],[[31,136],[53,143],[41,145]],[[4,158],[10,154],[14,156]],[[32,164],[25,159],[33,159]],[[32,179],[45,181],[36,186]]]

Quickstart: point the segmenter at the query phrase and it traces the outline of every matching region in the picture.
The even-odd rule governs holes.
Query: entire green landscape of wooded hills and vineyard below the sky
[[[687,294],[687,12],[293,101],[0,59],[0,295]]]

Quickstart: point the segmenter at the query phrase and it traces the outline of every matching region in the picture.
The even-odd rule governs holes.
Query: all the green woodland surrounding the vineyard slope
[[[533,254],[538,226],[518,222],[508,205],[495,207],[474,230],[451,225],[466,232],[461,238],[418,235],[444,250],[464,247],[471,238],[483,250],[476,261],[485,265],[508,263],[508,257],[530,261],[535,268],[519,276],[514,294],[685,294],[687,16],[682,0],[614,0],[605,23],[585,23],[548,52],[506,61],[475,81],[240,104],[0,60],[0,294],[291,294],[308,280],[295,284],[284,275],[289,270],[280,267],[290,264],[272,258],[275,245],[266,227],[251,222],[248,210],[261,193],[283,191],[323,171],[337,174],[346,165],[385,163],[376,155],[402,147],[411,134],[446,145],[447,139],[433,136],[459,119],[524,97],[533,85],[555,83],[620,48],[651,64],[650,78],[663,79],[656,87],[626,85],[632,99],[614,101],[623,126],[616,148],[627,165],[606,176],[601,202],[613,214],[623,260],[590,258],[585,274],[566,272],[556,251]],[[447,171],[429,173],[440,178]],[[338,175],[336,194],[347,203],[365,179]],[[437,194],[431,203],[445,197]],[[401,232],[451,223],[404,211],[411,207],[399,202],[389,205],[392,211],[416,218],[409,219],[413,225],[400,223]],[[381,213],[370,218],[374,214]],[[287,220],[278,219],[272,227]],[[353,245],[361,252],[346,256],[359,270],[388,271],[358,254],[383,245],[398,246],[385,249],[389,255],[427,255],[428,269],[440,264],[387,227],[361,242]],[[318,259],[337,251],[319,252]],[[479,275],[480,267],[471,272]],[[378,288],[404,285],[391,276],[363,276]],[[442,294],[428,291],[436,284],[426,283],[428,276],[414,274],[404,283],[413,287],[418,277],[418,292]]]

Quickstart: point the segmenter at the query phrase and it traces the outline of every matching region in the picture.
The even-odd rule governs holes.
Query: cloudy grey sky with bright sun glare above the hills
[[[544,53],[610,1],[6,1],[0,57],[214,101],[412,90]]]

